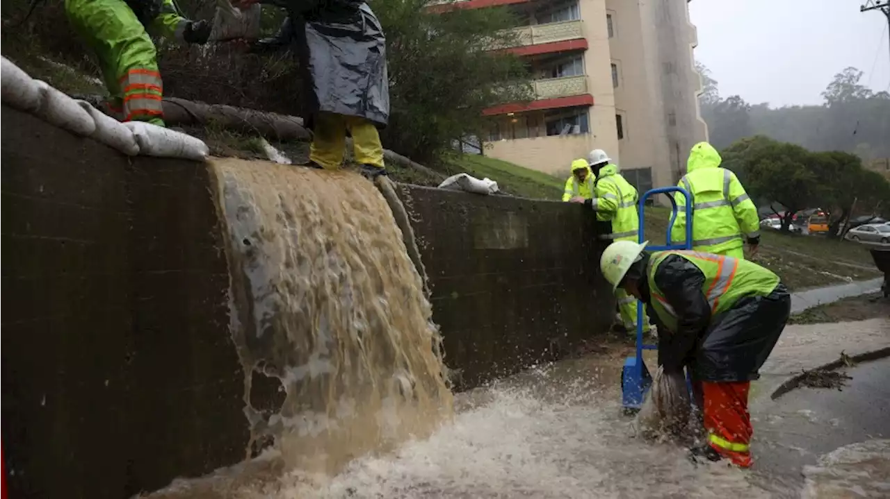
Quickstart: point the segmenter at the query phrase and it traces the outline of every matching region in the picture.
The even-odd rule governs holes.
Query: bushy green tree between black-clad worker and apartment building
[[[427,0],[374,4],[384,26],[389,57],[390,126],[387,147],[423,162],[451,150],[467,136],[481,136],[483,109],[532,99],[522,61],[492,47],[514,46],[506,9],[455,9],[433,13]]]

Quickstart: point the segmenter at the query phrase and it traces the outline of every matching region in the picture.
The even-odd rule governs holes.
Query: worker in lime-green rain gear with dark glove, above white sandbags
[[[78,36],[99,58],[111,115],[164,126],[164,83],[146,29],[184,44],[206,44],[211,26],[180,15],[173,0],[65,0]]]

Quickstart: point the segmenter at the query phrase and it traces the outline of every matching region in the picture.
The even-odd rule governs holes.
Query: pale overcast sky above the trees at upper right
[[[693,0],[695,58],[711,70],[722,97],[738,94],[750,104],[820,104],[832,76],[848,66],[865,72],[860,83],[883,91],[890,88],[887,21],[881,12],[859,12],[861,4]]]

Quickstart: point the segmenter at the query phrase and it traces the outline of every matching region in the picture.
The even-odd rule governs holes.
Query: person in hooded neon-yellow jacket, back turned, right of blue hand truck
[[[723,160],[708,142],[692,147],[686,174],[677,186],[692,194],[692,249],[728,257],[743,258],[743,242],[752,255],[760,243],[760,218],[739,178],[720,168]],[[679,207],[671,232],[672,242],[685,241],[686,198],[674,194]]]

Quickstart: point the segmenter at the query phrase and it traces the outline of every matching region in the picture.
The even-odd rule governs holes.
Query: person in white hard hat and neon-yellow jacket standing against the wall
[[[572,163],[573,171],[575,163]],[[601,234],[603,239],[636,242],[640,230],[640,218],[636,210],[638,201],[636,188],[621,176],[618,166],[612,164],[609,154],[603,149],[590,151],[587,155],[587,166],[595,177],[594,195],[590,199],[575,196],[570,201],[583,202],[596,212],[597,221],[611,223],[611,233]],[[568,186],[568,183],[566,185]],[[618,300],[621,326],[627,333],[635,334],[636,298],[627,295],[624,289],[620,288],[615,289],[615,298]],[[651,329],[649,318],[645,313],[643,313],[643,329]]]

